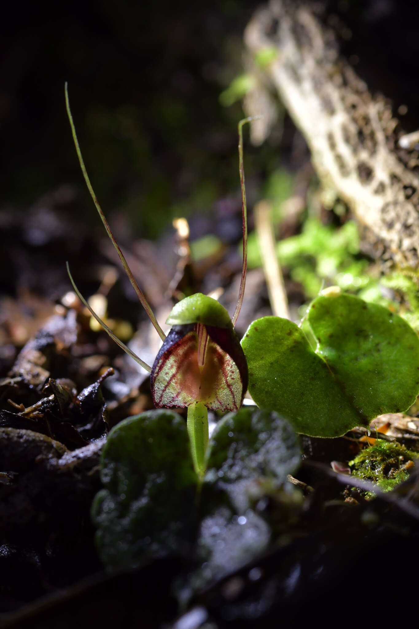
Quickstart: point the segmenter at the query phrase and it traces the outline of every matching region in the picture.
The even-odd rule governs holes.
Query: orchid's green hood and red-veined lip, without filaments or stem
[[[248,365],[228,313],[200,293],[170,313],[175,323],[151,369],[151,394],[158,408],[200,402],[214,411],[241,407]]]

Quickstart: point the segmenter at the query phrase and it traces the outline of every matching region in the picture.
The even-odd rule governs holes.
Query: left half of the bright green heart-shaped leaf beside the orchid
[[[298,432],[338,437],[366,423],[292,321],[275,316],[253,321],[241,343],[254,401],[287,417]]]

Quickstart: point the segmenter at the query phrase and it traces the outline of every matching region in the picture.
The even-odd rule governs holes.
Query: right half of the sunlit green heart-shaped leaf
[[[320,296],[308,311],[317,354],[368,423],[400,413],[419,391],[418,335],[400,316],[346,294]]]

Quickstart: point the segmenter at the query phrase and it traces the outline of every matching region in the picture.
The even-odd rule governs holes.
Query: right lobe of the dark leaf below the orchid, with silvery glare
[[[212,509],[207,506],[210,513],[200,525],[202,581],[219,578],[266,550],[271,526],[256,505],[266,493],[278,491],[300,457],[297,435],[278,413],[246,406],[219,421],[207,450],[203,499]]]

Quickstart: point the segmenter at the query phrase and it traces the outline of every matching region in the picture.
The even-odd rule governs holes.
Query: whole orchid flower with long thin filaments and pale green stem
[[[67,263],[68,276],[80,301],[89,309],[91,315],[101,324],[102,328],[124,352],[128,353],[131,358],[150,372],[151,395],[153,396],[155,406],[158,408],[187,407],[187,426],[193,464],[197,473],[202,474],[205,450],[209,439],[208,409],[223,412],[239,409],[248,388],[248,365],[239,339],[234,331],[234,325],[236,325],[244,297],[248,257],[248,223],[244,184],[242,126],[254,120],[254,118],[245,118],[238,125],[243,261],[239,296],[234,315],[230,319],[227,310],[218,301],[202,293],[197,293],[182,299],[171,310],[166,320],[166,323],[171,325],[171,330],[165,337],[150,305],[134,279],[131,269],[129,269],[128,262],[112,234],[109,223],[107,223],[90,184],[70,111],[67,83],[65,84],[65,103],[80,167],[90,195],[99,216],[101,216],[107,234],[117,250],[129,281],[138,295],[139,301],[163,340],[163,345],[152,367],[124,345],[101,318],[96,315],[82,294],[80,294],[79,289],[77,289]]]

